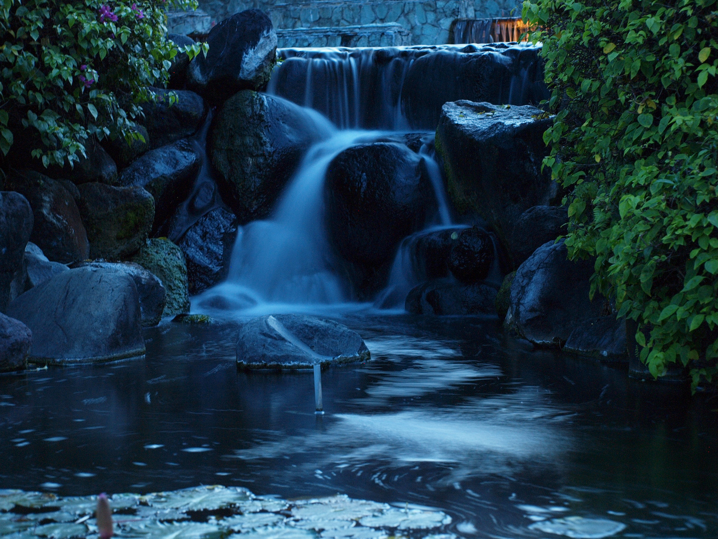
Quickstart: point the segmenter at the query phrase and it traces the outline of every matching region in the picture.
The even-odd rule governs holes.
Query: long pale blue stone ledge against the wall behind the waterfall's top
[[[278,47],[398,47],[411,45],[411,32],[401,24],[355,24],[289,28],[276,31]]]

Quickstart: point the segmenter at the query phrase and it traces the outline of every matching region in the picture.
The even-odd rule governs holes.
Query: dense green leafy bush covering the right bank
[[[541,29],[544,164],[569,188],[572,257],[637,320],[659,377],[718,372],[717,0],[526,0]]]

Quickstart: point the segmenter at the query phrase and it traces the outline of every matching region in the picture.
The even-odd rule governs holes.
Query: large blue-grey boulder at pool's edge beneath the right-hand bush
[[[561,347],[580,324],[602,315],[589,300],[593,260],[567,259],[563,241],[542,245],[516,270],[505,325],[537,346]]]

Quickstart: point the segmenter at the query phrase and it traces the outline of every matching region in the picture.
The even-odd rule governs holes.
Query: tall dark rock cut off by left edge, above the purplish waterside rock
[[[23,195],[0,191],[0,313],[25,290],[24,252],[32,221],[32,208]]]

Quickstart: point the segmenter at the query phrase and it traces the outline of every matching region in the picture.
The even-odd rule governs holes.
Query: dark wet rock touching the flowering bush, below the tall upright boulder
[[[144,126],[149,132],[150,149],[191,137],[200,129],[207,114],[205,100],[189,90],[149,88],[157,101],[142,103]],[[177,101],[169,104],[170,93]]]

